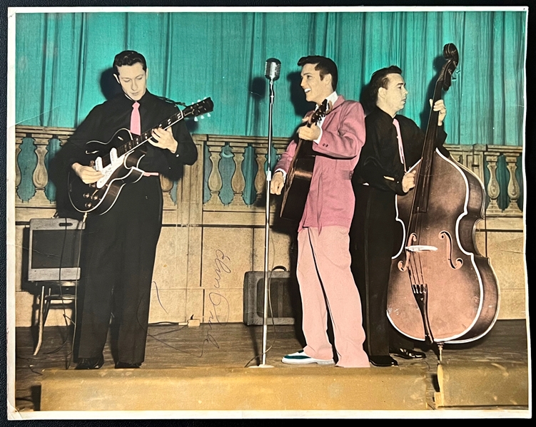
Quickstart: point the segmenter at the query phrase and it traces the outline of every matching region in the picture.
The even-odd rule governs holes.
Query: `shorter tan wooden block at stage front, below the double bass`
[[[442,362],[436,406],[528,406],[527,363]]]

